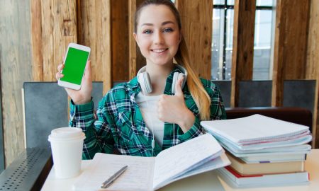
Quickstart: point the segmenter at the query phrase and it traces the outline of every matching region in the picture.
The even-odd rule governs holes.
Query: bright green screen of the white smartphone
[[[65,76],[63,76],[60,80],[81,85],[88,57],[89,52],[69,47],[67,58],[65,59],[65,67],[62,71],[62,74]]]

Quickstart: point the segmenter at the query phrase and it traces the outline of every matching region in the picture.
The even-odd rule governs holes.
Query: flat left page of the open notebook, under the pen
[[[152,190],[155,157],[95,154],[91,166],[77,178],[73,190]],[[106,189],[101,184],[123,166],[124,173]]]

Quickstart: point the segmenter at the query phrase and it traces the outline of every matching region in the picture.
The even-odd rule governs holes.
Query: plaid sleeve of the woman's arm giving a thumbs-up
[[[211,97],[211,117],[210,120],[225,120],[226,112],[223,104],[223,98],[220,96],[219,88],[211,81],[201,80],[208,95]],[[195,115],[194,125],[189,131],[179,136],[179,141],[187,141],[201,134],[205,134],[205,130],[200,125],[199,116]]]

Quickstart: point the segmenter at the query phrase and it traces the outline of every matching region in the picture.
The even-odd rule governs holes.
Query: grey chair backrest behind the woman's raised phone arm
[[[56,82],[23,83],[26,120],[26,147],[50,147],[47,137],[52,129],[68,126],[67,93]],[[103,83],[94,82],[94,108],[103,96]]]

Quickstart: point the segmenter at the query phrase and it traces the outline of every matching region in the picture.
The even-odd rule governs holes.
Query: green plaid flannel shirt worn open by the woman
[[[179,69],[175,68],[168,76],[164,94],[172,95],[172,79],[175,71]],[[211,120],[225,119],[225,109],[218,87],[205,79],[201,79],[201,82],[211,97]],[[99,102],[96,117],[92,101],[84,105],[74,105],[71,101],[69,126],[82,128],[86,136],[83,159],[91,159],[98,152],[112,153],[114,147],[125,155],[156,156],[164,149],[205,134],[200,125],[198,108],[185,85],[183,88],[185,103],[195,115],[194,125],[184,133],[178,125],[165,122],[162,148],[155,141],[152,153],[152,132],[146,127],[135,101],[135,96],[140,91],[136,77],[128,83],[121,83],[112,88]]]

